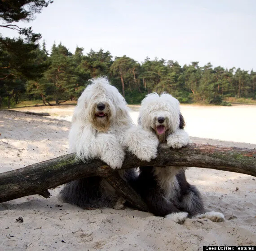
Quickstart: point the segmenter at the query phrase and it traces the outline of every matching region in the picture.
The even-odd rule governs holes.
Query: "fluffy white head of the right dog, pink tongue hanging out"
[[[172,95],[151,93],[141,102],[138,124],[153,131],[164,142],[168,134],[185,126],[180,113],[180,103]]]

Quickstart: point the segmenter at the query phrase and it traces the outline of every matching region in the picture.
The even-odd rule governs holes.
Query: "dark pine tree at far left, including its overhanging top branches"
[[[43,76],[46,65],[38,60],[42,53],[36,43],[40,34],[35,34],[31,27],[21,28],[12,22],[31,21],[35,13],[52,3],[52,0],[2,0],[0,1],[0,20],[5,25],[0,28],[18,31],[24,39],[4,38],[0,34],[0,107],[12,98],[17,104],[26,91],[26,81],[38,80]]]

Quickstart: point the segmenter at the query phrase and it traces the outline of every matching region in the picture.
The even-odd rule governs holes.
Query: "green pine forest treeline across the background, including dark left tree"
[[[76,100],[88,79],[107,76],[127,100],[139,104],[147,93],[166,91],[181,103],[201,102],[228,105],[227,97],[256,99],[256,72],[243,69],[213,67],[199,62],[179,65],[177,61],[146,58],[139,63],[128,56],[113,57],[100,49],[84,53],[77,47],[71,53],[62,43],[46,50],[40,46],[40,34],[31,27],[22,28],[18,21],[31,21],[35,13],[52,0],[5,0],[0,5],[4,29],[16,30],[18,38],[0,34],[0,107],[21,100],[42,100],[56,105]],[[51,101],[51,103],[50,103]]]

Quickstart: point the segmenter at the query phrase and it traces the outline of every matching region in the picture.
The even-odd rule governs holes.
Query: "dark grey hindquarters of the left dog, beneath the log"
[[[60,198],[84,209],[113,208],[118,198],[110,189],[101,177],[82,178],[67,183],[60,193]]]

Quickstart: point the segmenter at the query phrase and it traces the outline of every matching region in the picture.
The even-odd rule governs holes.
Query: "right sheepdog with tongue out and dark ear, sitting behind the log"
[[[138,124],[168,147],[181,148],[189,143],[179,101],[167,93],[152,93],[142,100]],[[155,216],[165,216],[179,224],[188,216],[224,220],[222,213],[205,213],[202,195],[186,181],[183,167],[140,167],[140,175],[132,186]]]

